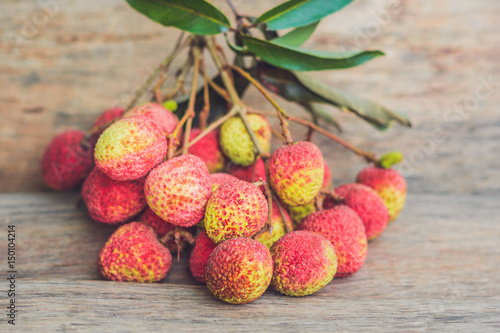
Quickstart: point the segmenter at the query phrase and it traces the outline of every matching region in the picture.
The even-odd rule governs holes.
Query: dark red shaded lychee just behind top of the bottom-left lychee
[[[191,228],[180,227],[179,231],[181,235],[179,239],[179,246],[177,246],[177,243],[175,242],[175,235],[173,234],[175,232],[176,226],[163,220],[161,217],[156,215],[149,207],[146,207],[146,209],[144,209],[144,211],[140,213],[135,219],[137,222],[142,222],[152,227],[158,235],[158,239],[160,240],[168,233],[171,233],[172,237],[169,236],[169,239],[164,242],[164,245],[167,247],[167,249],[169,249],[170,252],[176,253],[178,249],[182,250],[189,244],[189,240],[183,236],[183,233],[191,234],[191,232],[193,231],[191,230]]]

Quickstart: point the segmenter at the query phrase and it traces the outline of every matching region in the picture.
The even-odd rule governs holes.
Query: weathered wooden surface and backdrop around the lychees
[[[235,2],[250,14],[278,3]],[[393,3],[400,9],[377,29],[373,22]],[[244,306],[210,296],[190,277],[187,254],[162,284],[99,280],[96,256],[113,228],[77,209],[77,193],[47,192],[39,161],[56,133],[88,128],[102,109],[126,102],[175,34],[124,1],[91,0],[61,5],[21,45],[5,38],[21,34],[40,8],[36,0],[5,0],[0,11],[0,230],[16,225],[17,330],[500,330],[499,1],[358,0],[320,24],[307,47],[387,53],[317,75],[412,119],[411,130],[379,133],[350,115],[338,117],[342,137],[359,147],[403,151],[407,206],[369,244],[354,276],[310,297],[268,291]],[[361,38],[363,31],[370,37]],[[245,100],[271,110],[254,90]],[[319,135],[315,142],[336,184],[351,182],[364,165]],[[0,248],[5,290],[5,234]],[[0,323],[0,331],[9,328]]]

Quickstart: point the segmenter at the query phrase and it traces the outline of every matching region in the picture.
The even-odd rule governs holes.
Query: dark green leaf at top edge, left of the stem
[[[227,17],[204,0],[127,0],[130,6],[164,26],[197,35],[216,35],[231,27]]]

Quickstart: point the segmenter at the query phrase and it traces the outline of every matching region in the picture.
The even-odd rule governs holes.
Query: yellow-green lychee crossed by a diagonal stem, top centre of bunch
[[[249,114],[248,122],[254,130],[261,148],[269,153],[271,149],[271,126],[261,115]],[[234,163],[249,166],[255,162],[255,153],[250,134],[240,117],[228,119],[220,129],[220,144],[224,154]]]

